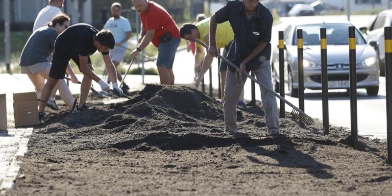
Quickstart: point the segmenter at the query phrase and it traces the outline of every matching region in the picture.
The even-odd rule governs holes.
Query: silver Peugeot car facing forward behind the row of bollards
[[[289,87],[289,95],[298,97],[298,60],[297,60],[297,29],[303,30],[303,67],[304,87],[307,89],[321,89],[321,58],[320,58],[320,28],[327,32],[328,56],[328,88],[348,89],[349,83],[349,49],[348,27],[345,23],[322,23],[289,25],[284,30],[285,82]],[[356,29],[356,62],[357,88],[366,88],[369,96],[378,94],[379,67],[376,52],[372,46],[376,42],[367,44],[364,37]],[[370,46],[372,45],[372,46]],[[272,79],[274,89],[279,92],[279,49],[273,47]]]

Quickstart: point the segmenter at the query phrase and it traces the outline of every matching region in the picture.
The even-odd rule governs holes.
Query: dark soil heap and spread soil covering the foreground
[[[237,110],[241,134],[223,133],[222,105],[187,87],[147,85],[131,99],[34,130],[10,195],[387,195],[385,141],[319,122],[280,119],[270,137],[260,105]],[[50,115],[49,115],[50,116]],[[287,115],[290,116],[290,115]]]

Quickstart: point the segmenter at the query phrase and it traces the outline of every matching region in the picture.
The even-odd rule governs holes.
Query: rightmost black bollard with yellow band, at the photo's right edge
[[[388,164],[392,165],[392,27],[384,28],[385,36],[385,83],[387,88],[387,146]]]

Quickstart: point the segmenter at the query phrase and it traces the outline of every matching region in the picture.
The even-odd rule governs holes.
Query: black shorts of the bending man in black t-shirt
[[[54,79],[64,79],[65,73],[67,71],[68,62],[70,60],[76,63],[80,70],[79,55],[72,56],[69,54],[64,54],[61,52],[53,52],[52,66],[50,67],[49,77]],[[88,63],[91,64],[90,56],[88,57]]]

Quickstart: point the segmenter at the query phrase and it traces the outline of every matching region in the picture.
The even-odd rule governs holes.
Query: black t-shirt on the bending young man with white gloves
[[[79,23],[72,25],[57,37],[54,50],[73,57],[78,55],[90,56],[97,51],[93,40],[98,32],[96,28],[89,24]],[[109,53],[102,52],[102,54]]]

